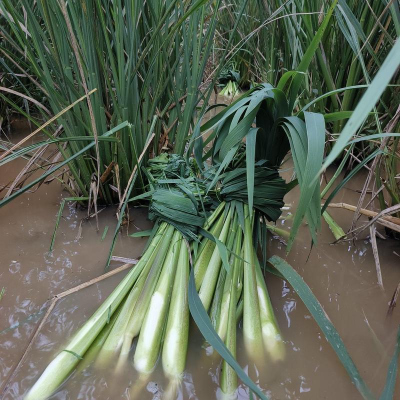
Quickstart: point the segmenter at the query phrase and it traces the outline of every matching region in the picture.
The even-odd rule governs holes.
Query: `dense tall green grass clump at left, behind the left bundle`
[[[73,195],[88,196],[90,181],[98,182],[111,166],[105,181],[98,183],[99,199],[117,201],[138,165],[150,128],[155,133],[150,153],[183,153],[196,107],[212,84],[201,86],[216,23],[212,9],[206,0],[1,2],[2,42],[33,77],[34,90],[25,86],[25,93],[44,96],[56,114],[97,89],[56,121],[63,137],[95,141],[68,164]],[[0,96],[27,114],[1,91]],[[117,142],[97,139],[125,120],[131,126],[117,132]],[[51,125],[45,130],[49,138],[54,130]],[[69,141],[59,150],[68,158],[84,145]],[[142,179],[138,182],[140,186]]]

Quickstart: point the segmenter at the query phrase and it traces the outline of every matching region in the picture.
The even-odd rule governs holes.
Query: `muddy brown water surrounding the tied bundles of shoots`
[[[0,183],[15,176],[18,163],[1,167]],[[350,182],[335,198],[355,204],[363,175]],[[108,207],[99,214],[99,231],[94,219],[80,221],[86,210],[65,206],[55,246],[48,254],[51,234],[59,202],[66,192],[56,182],[42,185],[35,193],[26,193],[0,208],[0,380],[4,383],[21,357],[29,337],[44,312],[43,304],[51,295],[101,275],[115,227],[115,209]],[[298,192],[289,193],[285,202],[295,208]],[[347,229],[352,214],[342,209],[330,210],[336,221]],[[131,208],[129,232],[151,226],[144,208]],[[283,212],[278,224],[290,228],[290,211]],[[104,227],[108,232],[101,241]],[[400,309],[386,318],[388,302],[400,280],[398,242],[378,239],[378,249],[385,291],[376,284],[372,250],[366,233],[355,241],[331,245],[332,234],[324,222],[319,245],[307,260],[310,240],[303,225],[287,261],[298,271],[340,333],[361,376],[378,396],[383,388],[389,359],[396,340]],[[144,239],[118,236],[114,255],[135,258],[145,244]],[[285,247],[278,237],[268,236],[269,254],[284,256]],[[113,266],[119,265],[113,263]],[[19,399],[42,372],[73,332],[90,316],[112,291],[126,271],[73,293],[60,300],[40,331],[37,340],[4,399]],[[335,352],[323,336],[309,311],[285,281],[268,274],[267,286],[286,345],[286,359],[264,365],[248,364],[238,327],[238,361],[256,383],[272,399],[357,399],[361,398],[351,383]],[[218,373],[220,360],[209,351],[193,324],[183,385],[179,399],[219,398]],[[147,382],[148,381],[148,382]],[[157,399],[167,381],[160,365],[140,383],[132,365],[118,375],[113,366],[103,370],[89,365],[74,372],[50,398],[66,399]],[[134,394],[134,387],[138,391]],[[238,398],[248,398],[245,386],[238,388]],[[396,385],[394,398],[400,398]]]

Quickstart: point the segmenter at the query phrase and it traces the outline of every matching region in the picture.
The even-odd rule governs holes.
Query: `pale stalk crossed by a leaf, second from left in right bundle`
[[[226,237],[229,232],[229,225],[231,223],[230,220],[230,210],[226,215],[226,219],[223,223],[221,233],[219,234],[218,239],[222,242],[226,242]],[[198,295],[200,297],[201,302],[203,303],[203,306],[205,310],[208,310],[212,296],[214,294],[215,290],[215,284],[216,280],[218,278],[218,273],[219,273],[219,268],[221,266],[221,255],[219,253],[218,246],[215,245],[215,248],[212,252],[211,258],[209,260],[207,269],[204,274],[204,278],[201,282],[201,287],[198,292]]]

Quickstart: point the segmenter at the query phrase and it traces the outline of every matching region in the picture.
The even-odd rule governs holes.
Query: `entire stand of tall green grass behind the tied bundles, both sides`
[[[72,196],[89,196],[90,181],[98,181],[108,170],[97,183],[99,200],[104,203],[118,201],[131,183],[131,171],[138,165],[151,129],[155,136],[150,152],[183,153],[196,108],[201,99],[208,98],[214,83],[202,83],[211,51],[220,60],[233,59],[242,86],[264,81],[276,85],[287,70],[298,69],[330,5],[321,0],[153,0],[144,4],[96,0],[84,1],[83,6],[67,3],[66,8],[61,4],[58,0],[0,4],[0,59],[9,71],[3,76],[7,76],[8,87],[25,96],[0,90],[0,97],[3,108],[7,104],[37,124],[32,111],[48,118],[43,105],[55,114],[97,88],[87,101],[57,118],[57,124],[62,125],[61,135],[66,138],[87,135],[95,140],[89,153],[69,162],[67,187]],[[297,110],[309,104],[308,110],[328,115],[326,153],[399,31],[400,11],[395,1],[337,1],[326,33],[304,71],[301,96],[293,99]],[[393,82],[398,77],[397,70]],[[398,131],[399,93],[398,86],[388,85],[354,133],[382,133],[389,127]],[[153,115],[157,117],[152,125]],[[131,126],[117,133],[117,142],[96,139],[125,120]],[[54,130],[47,128],[50,138]],[[398,138],[386,141],[388,156],[374,166],[373,177],[376,190],[384,187],[378,195],[381,209],[400,200],[395,177]],[[84,144],[73,140],[65,149],[61,144],[58,148],[68,158]],[[380,138],[359,141],[341,151],[336,160],[348,150],[349,171],[381,145]],[[33,167],[37,167],[34,162]],[[134,186],[143,186],[140,168],[137,174]]]

